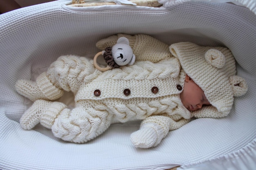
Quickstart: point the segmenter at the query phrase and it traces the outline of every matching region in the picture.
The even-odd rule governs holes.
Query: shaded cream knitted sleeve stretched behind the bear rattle
[[[136,61],[151,61],[157,63],[161,60],[173,57],[169,51],[169,46],[163,42],[144,34],[127,35],[117,34],[97,42],[96,46],[105,50],[108,46],[113,46],[117,43],[117,39],[126,37],[129,40],[129,45],[135,54]]]

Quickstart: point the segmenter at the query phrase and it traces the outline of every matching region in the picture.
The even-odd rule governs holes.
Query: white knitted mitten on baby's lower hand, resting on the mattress
[[[150,148],[157,146],[165,137],[163,128],[156,123],[143,124],[140,130],[133,132],[131,140],[134,146],[139,148]]]

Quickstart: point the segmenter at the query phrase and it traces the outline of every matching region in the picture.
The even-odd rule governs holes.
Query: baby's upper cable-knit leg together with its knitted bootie
[[[18,80],[16,91],[33,102],[37,99],[58,99],[63,91],[76,93],[84,80],[90,81],[99,73],[94,71],[93,62],[85,57],[61,56],[36,78],[36,82]]]

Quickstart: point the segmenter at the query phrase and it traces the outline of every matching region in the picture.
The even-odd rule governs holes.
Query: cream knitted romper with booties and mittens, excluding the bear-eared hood
[[[101,40],[97,46],[103,50],[121,36],[128,38],[136,56],[132,66],[101,72],[85,57],[61,56],[36,82],[19,80],[16,90],[35,101],[20,119],[21,126],[31,129],[41,123],[56,137],[83,143],[112,123],[143,119],[131,140],[137,147],[149,148],[159,144],[169,130],[189,122],[191,114],[180,100],[185,73],[169,46],[148,35],[123,34]],[[157,93],[152,91],[155,87]],[[124,94],[127,89],[129,95]],[[75,95],[72,110],[63,103],[49,102],[63,91]]]

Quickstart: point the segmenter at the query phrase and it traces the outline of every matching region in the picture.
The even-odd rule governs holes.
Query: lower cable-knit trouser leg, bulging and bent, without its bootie
[[[54,136],[65,141],[84,143],[101,135],[111,124],[112,115],[94,108],[64,109],[54,120]]]

